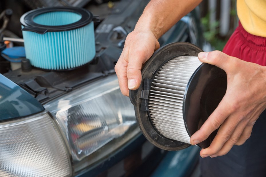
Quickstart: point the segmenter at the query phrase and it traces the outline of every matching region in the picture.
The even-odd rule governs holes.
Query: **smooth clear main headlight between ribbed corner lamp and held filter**
[[[121,94],[116,75],[76,89],[44,107],[64,132],[74,163],[123,136],[132,127],[138,129],[134,107]]]

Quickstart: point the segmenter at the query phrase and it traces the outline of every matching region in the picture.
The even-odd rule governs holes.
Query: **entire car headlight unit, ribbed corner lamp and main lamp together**
[[[44,105],[46,112],[0,122],[0,176],[73,176],[140,133],[116,75]],[[1,116],[1,115],[0,115]]]

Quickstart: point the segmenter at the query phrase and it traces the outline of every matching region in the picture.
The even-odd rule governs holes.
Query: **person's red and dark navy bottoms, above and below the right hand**
[[[223,52],[265,66],[266,38],[247,33],[239,23]],[[200,158],[202,177],[265,177],[265,140],[266,110],[259,116],[250,138],[243,145],[233,146],[224,156]]]

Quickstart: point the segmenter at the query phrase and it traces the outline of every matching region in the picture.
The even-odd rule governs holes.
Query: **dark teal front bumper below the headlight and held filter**
[[[161,150],[139,134],[123,148],[76,177],[190,176],[198,163],[199,151],[197,146],[179,151]]]

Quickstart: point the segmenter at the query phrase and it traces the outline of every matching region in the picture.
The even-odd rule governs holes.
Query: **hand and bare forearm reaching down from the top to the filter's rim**
[[[158,39],[202,0],[151,0],[145,7],[134,31],[125,41],[115,65],[123,95],[136,90],[141,83],[141,67],[159,48]]]

